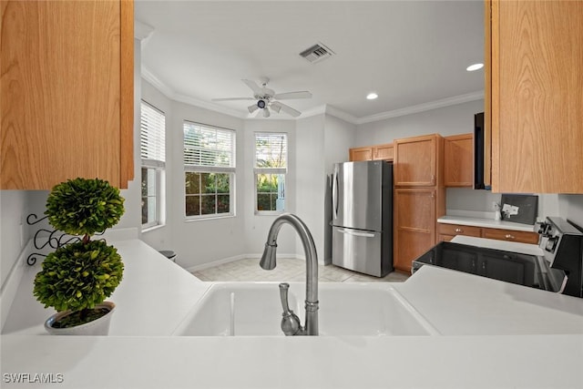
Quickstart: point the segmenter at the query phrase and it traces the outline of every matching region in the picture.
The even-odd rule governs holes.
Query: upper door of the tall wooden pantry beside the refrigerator
[[[394,185],[432,187],[443,183],[444,138],[438,134],[394,141]]]

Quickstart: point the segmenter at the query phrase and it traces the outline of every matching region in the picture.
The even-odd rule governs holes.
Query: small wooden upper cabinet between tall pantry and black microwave
[[[444,185],[474,188],[474,136],[444,138]]]

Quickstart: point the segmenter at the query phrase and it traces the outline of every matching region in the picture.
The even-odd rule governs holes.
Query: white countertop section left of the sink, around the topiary
[[[107,298],[116,303],[110,335],[169,335],[209,288],[143,241],[107,242],[118,249],[125,267],[122,282]],[[46,334],[43,324],[55,311],[33,296],[40,266],[26,266],[3,334]]]

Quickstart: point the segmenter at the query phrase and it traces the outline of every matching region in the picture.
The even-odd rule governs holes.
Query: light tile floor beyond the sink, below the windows
[[[296,259],[277,260],[277,267],[264,271],[259,266],[259,259],[249,258],[213,266],[200,271],[193,271],[200,281],[243,281],[243,282],[303,282],[305,281],[305,261]],[[334,265],[318,266],[320,282],[404,282],[409,276],[393,271],[384,278],[378,278],[349,271]]]

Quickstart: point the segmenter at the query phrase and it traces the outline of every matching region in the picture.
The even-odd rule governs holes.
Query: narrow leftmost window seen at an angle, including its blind
[[[162,224],[162,181],[166,167],[164,112],[141,102],[140,157],[142,159],[142,229]]]

